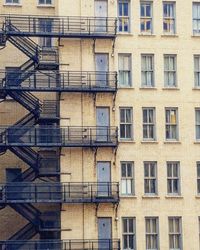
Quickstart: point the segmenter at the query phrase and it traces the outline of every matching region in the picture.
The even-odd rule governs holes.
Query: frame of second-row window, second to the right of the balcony
[[[151,68],[149,68],[149,62],[152,62]],[[155,87],[155,77],[154,77],[154,55],[153,54],[141,54],[141,86],[143,88],[154,88]],[[151,82],[149,84],[149,77]],[[145,80],[143,82],[143,79]]]

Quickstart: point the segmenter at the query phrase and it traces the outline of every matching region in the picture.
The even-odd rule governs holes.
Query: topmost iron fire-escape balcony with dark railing
[[[117,18],[112,17],[1,15],[0,20],[8,36],[105,39],[117,33]]]

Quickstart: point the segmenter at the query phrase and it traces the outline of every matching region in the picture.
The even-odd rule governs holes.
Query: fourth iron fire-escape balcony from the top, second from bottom
[[[0,184],[0,203],[118,203],[119,184],[32,183]]]

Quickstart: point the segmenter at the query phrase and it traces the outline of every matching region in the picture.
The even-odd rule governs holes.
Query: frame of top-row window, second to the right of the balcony
[[[147,16],[146,13],[144,16],[141,15],[141,8],[142,5],[150,5],[151,8],[151,16]],[[146,12],[146,10],[145,10]],[[151,29],[148,30],[147,29],[147,23],[150,22],[151,23]],[[144,23],[144,30],[142,30],[142,23]],[[140,1],[140,32],[142,34],[153,34],[153,2],[152,1]]]

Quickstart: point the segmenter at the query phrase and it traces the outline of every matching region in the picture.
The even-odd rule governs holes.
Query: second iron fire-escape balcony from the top
[[[117,72],[0,71],[0,90],[35,92],[116,92]]]

